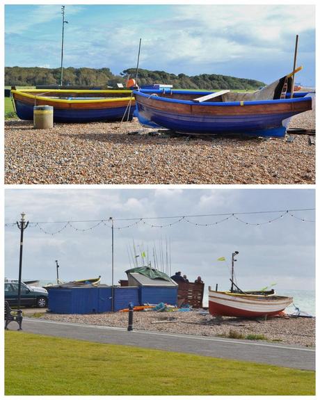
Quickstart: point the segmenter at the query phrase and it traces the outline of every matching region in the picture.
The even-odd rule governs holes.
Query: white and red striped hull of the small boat
[[[292,303],[291,297],[230,294],[209,291],[209,313],[221,317],[265,317],[279,314]]]

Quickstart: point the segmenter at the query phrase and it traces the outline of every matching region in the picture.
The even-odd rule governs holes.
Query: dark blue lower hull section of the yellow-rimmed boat
[[[15,100],[15,109],[20,120],[33,120],[33,106]],[[54,122],[99,122],[99,121],[117,121],[122,120],[127,107],[116,107],[112,109],[55,109]],[[134,106],[131,106],[129,120],[132,120]],[[126,112],[124,120],[128,117]]]

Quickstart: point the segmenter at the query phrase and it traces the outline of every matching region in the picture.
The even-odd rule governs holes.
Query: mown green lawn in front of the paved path
[[[17,331],[6,395],[314,395],[313,371]]]

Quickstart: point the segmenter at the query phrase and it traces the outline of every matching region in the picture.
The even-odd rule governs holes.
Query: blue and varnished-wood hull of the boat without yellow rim
[[[259,102],[204,102],[161,97],[161,90],[145,93],[134,90],[135,115],[147,125],[190,134],[243,134],[246,136],[285,136],[284,120],[312,109],[311,97],[264,100]],[[159,95],[158,95],[159,92]],[[192,93],[192,92],[184,92]],[[200,93],[195,92],[194,96]],[[203,93],[202,93],[203,94]]]

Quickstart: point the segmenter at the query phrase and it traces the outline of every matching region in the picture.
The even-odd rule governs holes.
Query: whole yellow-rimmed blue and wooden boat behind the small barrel
[[[33,106],[53,106],[54,122],[131,120],[131,90],[11,90],[21,120],[33,120]]]

